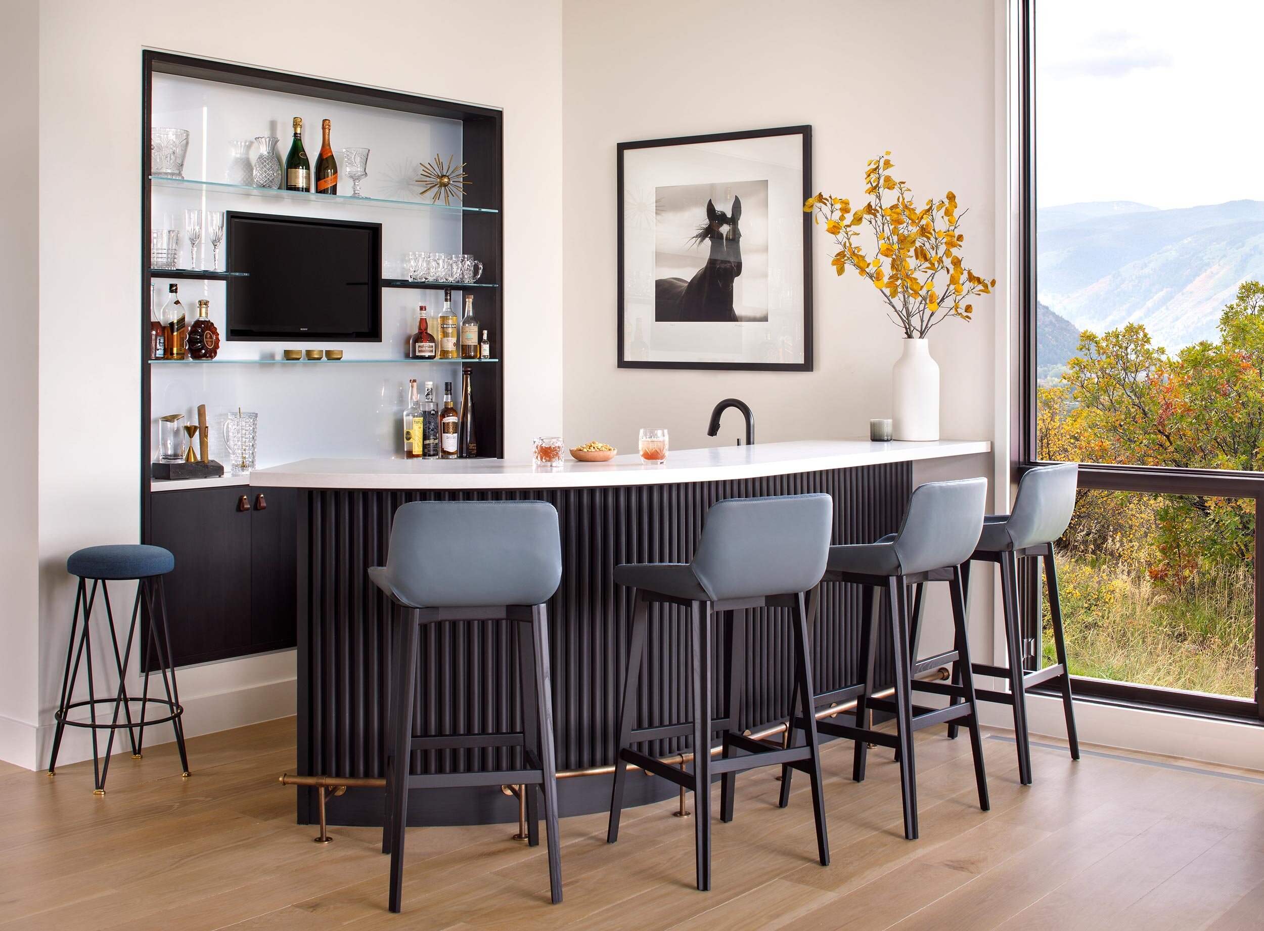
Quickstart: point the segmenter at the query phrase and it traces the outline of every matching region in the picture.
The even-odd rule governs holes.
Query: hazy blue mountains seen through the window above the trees
[[[1237,286],[1264,281],[1264,201],[1067,204],[1042,207],[1036,225],[1042,378],[1074,355],[1059,319],[1077,333],[1143,323],[1157,345],[1176,352],[1216,339]]]

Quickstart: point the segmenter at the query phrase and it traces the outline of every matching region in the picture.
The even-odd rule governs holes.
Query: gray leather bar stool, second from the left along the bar
[[[828,495],[789,495],[765,498],[729,498],[717,502],[707,515],[702,540],[691,563],[619,565],[614,581],[633,591],[628,665],[619,706],[619,736],[614,748],[614,791],[607,841],[619,836],[623,784],[627,767],[645,769],[694,793],[698,888],[710,888],[710,784],[720,779],[720,821],[733,818],[736,774],[756,767],[784,764],[811,779],[811,803],[817,823],[817,854],[829,865],[825,810],[822,798],[820,750],[817,721],[799,718],[804,745],[782,746],[752,740],[739,734],[744,681],[744,615],[752,607],[790,608],[794,640],[791,701],[811,701],[811,660],[808,657],[808,613],[804,596],[815,587],[825,569],[833,502]],[[690,631],[690,684],[693,721],[686,724],[633,727],[646,620],[651,603],[688,608]],[[712,717],[712,621],[719,613],[727,621],[724,648],[724,717]],[[770,612],[771,613],[771,612]],[[771,620],[771,619],[770,619]],[[712,735],[723,732],[723,759],[712,760]],[[667,737],[693,736],[694,772],[686,773],[655,756],[632,749],[633,744]],[[743,751],[742,756],[736,751]]]

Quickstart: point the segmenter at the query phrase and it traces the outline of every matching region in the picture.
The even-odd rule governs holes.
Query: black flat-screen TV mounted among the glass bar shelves
[[[228,339],[382,342],[382,224],[229,211]]]

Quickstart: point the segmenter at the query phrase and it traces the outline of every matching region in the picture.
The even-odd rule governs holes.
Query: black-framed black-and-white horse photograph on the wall
[[[619,368],[810,372],[811,195],[811,126],[619,143]]]

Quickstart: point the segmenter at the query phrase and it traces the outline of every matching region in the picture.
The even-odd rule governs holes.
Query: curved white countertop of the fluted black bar
[[[887,462],[944,459],[991,452],[987,440],[870,443],[801,440],[753,447],[672,449],[662,466],[648,466],[636,453],[605,463],[569,459],[560,468],[537,468],[508,459],[301,459],[255,469],[250,484],[279,488],[592,488],[670,484],[782,476],[793,472],[877,466]]]

